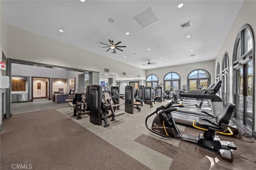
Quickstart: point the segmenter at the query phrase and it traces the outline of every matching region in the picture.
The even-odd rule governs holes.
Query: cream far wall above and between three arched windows
[[[215,76],[215,68],[214,68],[214,60],[211,61],[203,61],[199,63],[190,63],[190,64],[183,64],[183,65],[174,65],[170,67],[163,67],[157,69],[149,69],[146,71],[146,76],[150,74],[154,74],[158,77],[158,84],[164,81],[164,76],[170,72],[176,72],[180,75],[180,86],[187,85],[187,77],[188,74],[195,70],[195,69],[204,69],[208,71],[211,75],[211,82],[214,83],[214,76]]]

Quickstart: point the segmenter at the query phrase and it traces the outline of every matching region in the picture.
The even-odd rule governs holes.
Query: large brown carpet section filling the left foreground
[[[1,170],[12,164],[34,170],[149,169],[56,110],[13,115],[3,123]]]

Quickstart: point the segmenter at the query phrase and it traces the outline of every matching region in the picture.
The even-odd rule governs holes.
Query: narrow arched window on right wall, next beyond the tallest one
[[[229,93],[228,93],[228,80],[229,80],[229,74],[228,74],[228,53],[225,52],[223,57],[222,57],[222,72],[221,72],[221,81],[222,81],[222,86],[221,86],[221,98],[223,101],[223,104],[226,105],[226,103],[229,101]]]

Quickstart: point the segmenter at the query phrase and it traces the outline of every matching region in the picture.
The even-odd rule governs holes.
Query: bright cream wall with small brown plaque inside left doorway
[[[37,83],[41,83],[41,89],[37,89]],[[45,93],[46,93],[46,79],[33,78],[33,98],[46,97]]]

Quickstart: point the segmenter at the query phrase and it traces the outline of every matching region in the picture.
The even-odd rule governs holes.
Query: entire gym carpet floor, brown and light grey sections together
[[[219,135],[236,144],[234,162],[181,140],[162,139],[145,127],[145,118],[164,103],[145,105],[134,115],[125,113],[110,127],[93,125],[88,115],[76,120],[70,107],[13,115],[3,121],[1,170],[12,164],[32,164],[33,169],[153,169],[153,170],[254,170],[256,142]],[[120,107],[124,109],[124,105]],[[61,114],[62,113],[62,114]],[[149,121],[152,121],[149,120]],[[150,125],[150,124],[149,124]],[[184,134],[201,130],[178,125]],[[242,140],[250,139],[242,137]],[[255,141],[255,140],[254,140]]]

